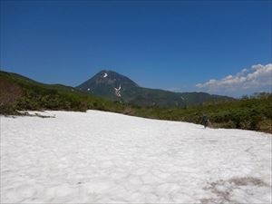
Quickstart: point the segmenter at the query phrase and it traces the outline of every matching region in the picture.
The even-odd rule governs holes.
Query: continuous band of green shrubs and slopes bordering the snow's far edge
[[[186,108],[140,107],[80,92],[59,84],[37,83],[15,73],[0,72],[0,114],[25,110],[88,109],[120,112],[146,118],[200,123],[203,113],[213,128],[237,128],[272,133],[272,94],[258,93],[240,100],[209,102]]]

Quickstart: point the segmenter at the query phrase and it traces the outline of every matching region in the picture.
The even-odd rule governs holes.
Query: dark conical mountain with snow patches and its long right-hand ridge
[[[230,101],[228,96],[213,95],[206,92],[170,92],[160,89],[144,88],[127,76],[109,70],[102,70],[92,78],[76,87],[112,101],[130,102],[138,106],[187,107],[203,102]]]

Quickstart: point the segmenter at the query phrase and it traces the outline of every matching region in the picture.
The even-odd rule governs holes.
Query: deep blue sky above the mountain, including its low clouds
[[[1,68],[72,86],[109,69],[150,88],[271,91],[271,19],[271,1],[1,1]]]

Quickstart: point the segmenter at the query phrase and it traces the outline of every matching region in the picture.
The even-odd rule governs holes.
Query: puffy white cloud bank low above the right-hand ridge
[[[257,90],[272,85],[272,63],[267,65],[253,65],[251,69],[243,69],[235,75],[228,75],[222,79],[211,79],[206,83],[198,83],[199,89],[208,92],[239,92]]]

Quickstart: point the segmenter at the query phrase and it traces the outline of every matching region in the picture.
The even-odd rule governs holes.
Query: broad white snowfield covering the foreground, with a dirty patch
[[[1,117],[1,203],[271,203],[271,134],[39,113]]]

